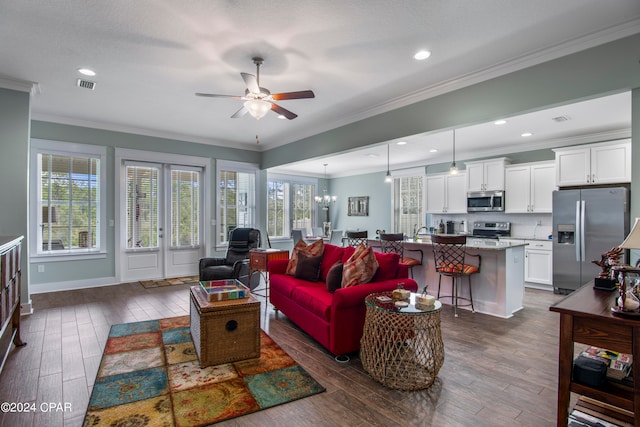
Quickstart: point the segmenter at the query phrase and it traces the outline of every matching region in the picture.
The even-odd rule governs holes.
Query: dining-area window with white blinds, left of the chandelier
[[[298,177],[270,176],[267,180],[267,232],[288,238],[292,228],[311,231],[316,224],[317,182]]]

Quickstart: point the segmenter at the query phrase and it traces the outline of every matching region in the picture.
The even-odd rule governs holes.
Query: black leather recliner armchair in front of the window
[[[229,248],[224,258],[200,258],[200,281],[238,279],[254,289],[259,285],[249,277],[249,251],[260,247],[260,230],[255,228],[234,228],[229,232]],[[255,283],[254,283],[255,282]]]

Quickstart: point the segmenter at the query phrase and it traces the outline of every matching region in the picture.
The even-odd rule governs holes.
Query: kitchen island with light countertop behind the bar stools
[[[380,241],[377,239],[370,239],[369,245],[380,250]],[[509,318],[522,310],[525,246],[524,243],[467,238],[467,253],[482,257],[480,272],[471,276],[473,305],[478,313]],[[439,274],[433,261],[431,243],[413,240],[405,242],[405,256],[419,258],[412,249],[421,250],[424,254],[422,265],[413,267],[413,277],[418,282],[418,288],[422,290],[427,285],[428,292],[437,295]],[[469,258],[468,262],[473,263],[475,260]],[[467,279],[462,280],[458,295],[468,298],[469,287],[465,283]],[[440,294],[452,295],[451,278],[442,278]],[[451,304],[451,299],[443,298],[442,303]],[[459,308],[471,310],[471,307]]]

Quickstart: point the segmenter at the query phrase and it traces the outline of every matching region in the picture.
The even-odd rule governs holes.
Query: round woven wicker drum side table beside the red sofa
[[[432,309],[416,308],[415,294],[408,307],[382,303],[379,296],[365,298],[367,313],[360,341],[362,366],[379,383],[397,390],[430,387],[444,362],[444,344],[440,330],[442,304]]]

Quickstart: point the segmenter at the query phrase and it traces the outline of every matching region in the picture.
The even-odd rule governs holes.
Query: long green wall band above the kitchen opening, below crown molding
[[[640,88],[640,34],[434,96],[264,152],[262,167]]]

